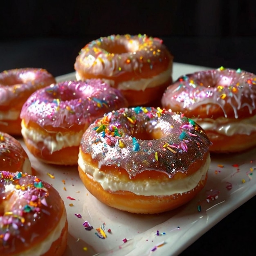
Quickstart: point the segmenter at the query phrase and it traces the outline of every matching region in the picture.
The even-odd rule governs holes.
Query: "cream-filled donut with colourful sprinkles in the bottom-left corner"
[[[0,209],[0,255],[63,255],[66,210],[47,182],[27,173],[0,171]]]

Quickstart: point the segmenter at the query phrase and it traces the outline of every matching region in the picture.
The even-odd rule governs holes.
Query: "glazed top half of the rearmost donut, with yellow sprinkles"
[[[172,60],[159,38],[111,35],[85,45],[76,57],[74,68],[81,79],[110,79],[117,87],[120,82],[156,76],[166,71]],[[172,69],[169,76],[171,72]]]

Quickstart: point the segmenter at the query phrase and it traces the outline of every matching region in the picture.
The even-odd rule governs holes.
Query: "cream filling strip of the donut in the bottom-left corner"
[[[52,243],[61,236],[61,231],[65,227],[66,220],[67,220],[67,213],[64,208],[60,222],[58,223],[56,228],[39,245],[36,245],[25,252],[22,252],[22,256],[40,256],[46,253],[51,248]],[[18,255],[20,254],[17,254],[16,256]]]

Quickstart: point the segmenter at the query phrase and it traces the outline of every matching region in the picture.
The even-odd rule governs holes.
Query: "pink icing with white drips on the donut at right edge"
[[[238,118],[245,111],[252,115],[256,110],[256,75],[223,67],[187,74],[166,89],[162,106],[186,111],[186,115],[201,106],[207,106],[200,109],[204,115],[216,106],[222,109],[223,117]]]

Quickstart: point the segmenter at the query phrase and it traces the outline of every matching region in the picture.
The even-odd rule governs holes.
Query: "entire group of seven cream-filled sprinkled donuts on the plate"
[[[71,81],[35,68],[0,73],[1,255],[62,255],[67,243],[60,195],[12,136],[46,164],[77,165],[101,202],[150,214],[204,188],[210,153],[256,145],[256,75],[220,67],[173,81],[172,69],[161,39],[126,34],[85,45]],[[38,236],[31,228],[41,232],[45,211],[54,218]]]

